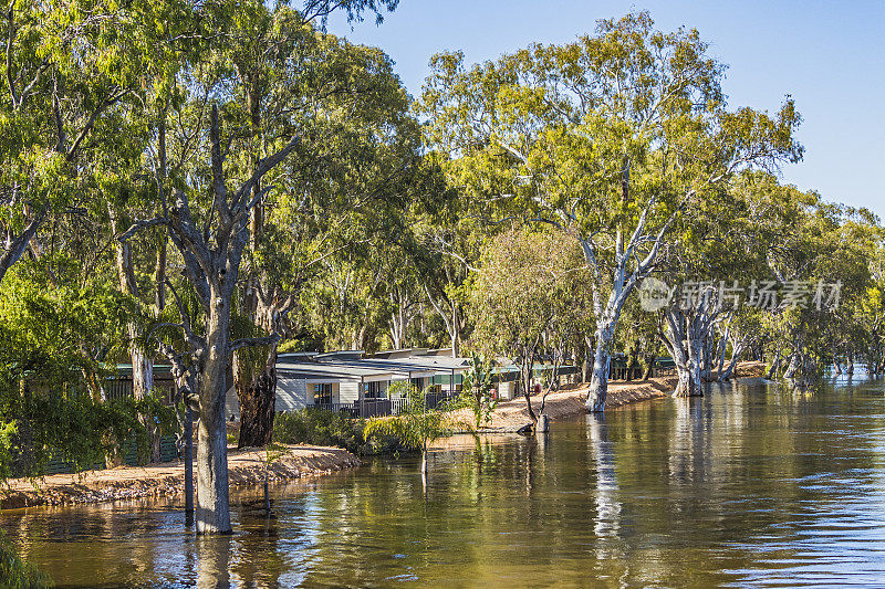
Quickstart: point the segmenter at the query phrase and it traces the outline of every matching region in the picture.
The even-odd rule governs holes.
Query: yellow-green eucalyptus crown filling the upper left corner
[[[160,7],[162,8],[162,7]],[[0,95],[0,281],[56,213],[84,204],[94,180],[93,138],[118,130],[114,111],[144,82],[144,54],[129,51],[139,9],[76,0],[12,2]]]

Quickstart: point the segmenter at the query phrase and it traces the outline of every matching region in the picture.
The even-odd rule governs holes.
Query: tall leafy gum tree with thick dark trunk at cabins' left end
[[[388,214],[395,212],[392,203],[406,202],[412,185],[421,183],[415,178],[420,144],[408,95],[383,52],[316,32],[292,12],[278,11],[259,25],[267,32],[249,36],[257,41],[246,46],[273,51],[260,52],[264,62],[254,55],[236,62],[253,144],[260,147],[256,139],[279,120],[274,112],[281,102],[296,105],[287,124],[303,137],[291,162],[270,179],[280,189],[252,210],[244,266],[243,312],[266,333],[280,333],[306,271],[331,263],[335,252],[354,252],[356,242],[379,238],[391,224],[386,220],[398,217]],[[267,55],[278,59],[270,62]],[[258,85],[264,90],[256,91]],[[289,252],[289,261],[281,260],[281,251]],[[343,293],[347,297],[351,286]],[[362,347],[365,319],[354,330],[355,347]],[[247,367],[240,356],[246,354],[235,358],[240,444],[263,445],[273,425],[277,348],[270,346],[261,366]]]

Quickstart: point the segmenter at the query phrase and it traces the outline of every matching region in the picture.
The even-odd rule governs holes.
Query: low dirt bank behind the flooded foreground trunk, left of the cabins
[[[263,450],[230,449],[228,452],[231,485],[263,482]],[[358,465],[356,456],[340,448],[289,445],[285,453],[271,464],[269,478],[298,478]],[[185,469],[184,462],[166,462],[80,474],[54,474],[35,483],[37,487],[27,478],[15,478],[6,488],[0,488],[0,509],[175,495],[184,492]]]

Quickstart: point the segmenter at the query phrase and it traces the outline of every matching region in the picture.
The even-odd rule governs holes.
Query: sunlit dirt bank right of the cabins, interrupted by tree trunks
[[[735,378],[758,378],[764,375],[762,362],[741,362],[735,370]],[[608,396],[605,400],[606,411],[616,411],[620,407],[637,401],[659,399],[669,397],[676,389],[676,376],[650,378],[648,380],[612,380],[608,382]],[[553,392],[548,396],[544,406],[544,413],[551,420],[571,418],[584,413],[584,400],[589,390],[587,383],[572,386],[566,390]],[[532,409],[535,413],[541,408],[541,397],[532,399]],[[472,414],[467,410],[456,412],[456,421],[470,422]],[[529,412],[525,409],[525,399],[519,397],[512,401],[504,401],[498,404],[492,417],[491,425],[483,431],[489,432],[510,432],[530,422]]]

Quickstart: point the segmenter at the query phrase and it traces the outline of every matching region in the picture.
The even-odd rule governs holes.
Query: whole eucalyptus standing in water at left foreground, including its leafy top
[[[311,3],[313,17],[317,7],[332,9],[339,3]],[[345,2],[350,11],[373,9],[383,2]],[[180,322],[175,326],[184,334],[188,349],[164,347],[174,364],[174,372],[183,382],[194,382],[190,391],[199,400],[197,529],[201,533],[230,532],[227,476],[227,434],[225,427],[226,371],[238,349],[252,345],[270,345],[275,335],[231,338],[231,307],[238,287],[243,252],[250,236],[252,211],[274,188],[262,180],[304,143],[304,128],[298,113],[303,107],[300,96],[281,92],[272,94],[273,108],[261,122],[261,152],[253,157],[254,127],[240,124],[243,92],[251,90],[248,78],[238,76],[227,61],[231,40],[239,35],[241,22],[274,22],[269,13],[287,20],[292,11],[281,6],[269,9],[259,2],[198,4],[196,13],[198,51],[188,56],[187,67],[175,83],[181,98],[169,101],[160,112],[156,149],[149,155],[157,187],[158,212],[150,219],[137,220],[119,239],[131,239],[149,227],[164,228],[184,263],[190,288],[199,302],[205,320],[197,328],[183,305]],[[233,10],[236,8],[236,11]],[[312,17],[311,17],[312,18]],[[292,17],[301,46],[315,48],[323,41],[316,35],[304,13]],[[305,81],[316,70],[335,66],[334,52],[314,54],[308,71],[299,55],[281,59],[283,77],[293,83]],[[329,62],[332,62],[331,64]],[[174,137],[166,128],[173,122]],[[185,165],[168,168],[168,155],[178,156]],[[258,188],[257,188],[258,187]],[[175,297],[179,303],[181,297]]]

